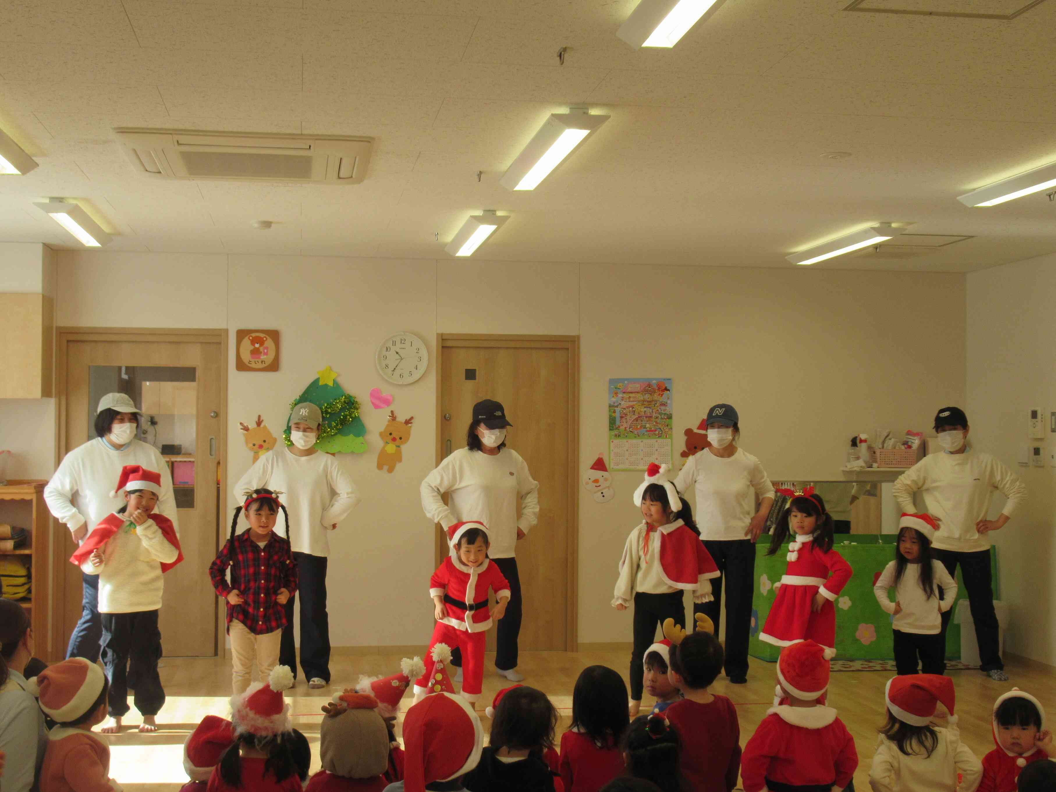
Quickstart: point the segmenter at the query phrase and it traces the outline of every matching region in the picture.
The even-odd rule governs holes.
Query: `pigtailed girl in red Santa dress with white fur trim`
[[[833,603],[844,590],[853,570],[832,549],[832,515],[813,487],[800,492],[777,490],[792,499],[777,521],[767,555],[780,549],[792,535],[789,562],[780,583],[774,584],[777,596],[759,633],[759,640],[775,646],[796,641],[814,641],[825,649],[826,659],[836,654],[836,609]],[[830,577],[831,576],[831,577]]]

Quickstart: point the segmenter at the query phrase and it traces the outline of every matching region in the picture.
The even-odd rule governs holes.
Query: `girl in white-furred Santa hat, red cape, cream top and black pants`
[[[635,606],[634,649],[630,653],[630,717],[642,705],[645,652],[656,639],[657,625],[673,619],[685,627],[682,596],[710,602],[712,578],[719,569],[700,541],[690,504],[667,478],[666,465],[649,465],[645,480],[635,491],[635,506],[643,522],[627,536],[620,559],[620,577],[612,592],[612,606]]]

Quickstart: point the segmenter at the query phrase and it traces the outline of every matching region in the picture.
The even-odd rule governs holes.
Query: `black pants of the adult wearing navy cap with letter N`
[[[722,542],[704,541],[704,547],[715,560],[721,574],[712,578],[712,602],[693,606],[694,614],[704,614],[715,622],[719,635],[722,609],[722,581],[725,581],[727,635],[725,675],[731,679],[748,676],[748,634],[752,627],[752,592],[755,580],[755,545],[750,539]]]

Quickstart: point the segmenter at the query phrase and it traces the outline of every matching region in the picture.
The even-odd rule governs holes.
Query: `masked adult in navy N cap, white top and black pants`
[[[731,682],[743,684],[748,681],[755,541],[773,506],[774,487],[759,460],[737,448],[740,425],[736,410],[715,404],[704,421],[711,446],[686,460],[675,487],[683,494],[690,486],[696,490],[700,539],[722,574],[712,581],[715,599],[695,604],[693,609],[705,614],[718,634],[725,579],[724,671]]]

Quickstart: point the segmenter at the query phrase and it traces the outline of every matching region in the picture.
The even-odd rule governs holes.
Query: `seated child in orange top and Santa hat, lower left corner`
[[[30,693],[58,724],[48,735],[40,792],[120,792],[110,778],[110,743],[92,727],[107,718],[110,684],[102,668],[72,657],[30,681]]]

